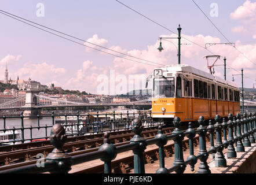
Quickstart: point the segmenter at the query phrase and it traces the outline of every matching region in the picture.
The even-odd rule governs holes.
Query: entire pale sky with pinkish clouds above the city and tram
[[[184,44],[181,46],[181,64],[208,71],[204,57],[211,53],[186,39],[200,46],[206,43],[227,42],[190,0],[120,0],[120,2],[176,33],[178,24],[181,25],[181,43]],[[230,45],[208,47],[212,53],[227,58],[227,68],[236,69],[236,71],[227,69],[227,80],[232,80],[232,74],[239,73],[243,68],[244,87],[252,88],[253,83],[256,83],[256,1],[195,0],[195,2],[240,51]],[[44,17],[38,17],[36,14],[39,10],[36,8],[38,3],[44,5]],[[164,50],[161,53],[156,50],[160,36],[177,37],[177,35],[134,13],[115,0],[74,2],[2,0],[0,7],[6,12],[86,40],[83,42],[73,39],[81,43],[79,45],[0,14],[0,80],[4,79],[7,62],[9,76],[12,79],[17,79],[18,75],[19,79],[24,80],[31,77],[32,80],[42,84],[54,83],[55,86],[64,89],[91,93],[97,92],[99,84],[107,84],[110,92],[111,87],[115,87],[112,86],[111,79],[115,79],[116,86],[124,80],[132,84],[132,80],[129,80],[131,76],[143,79],[157,66],[177,64],[177,39],[162,40]],[[211,14],[213,9],[217,10],[215,16]],[[108,49],[153,63],[123,56]],[[222,58],[216,64],[222,65]],[[223,66],[216,66],[215,71],[218,76],[223,77]],[[102,76],[109,79],[101,80]],[[235,82],[242,86],[240,76],[235,76]],[[144,88],[143,84],[141,88]]]

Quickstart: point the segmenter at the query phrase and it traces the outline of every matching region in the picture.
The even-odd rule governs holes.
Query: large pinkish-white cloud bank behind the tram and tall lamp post
[[[160,35],[162,37],[174,37],[176,35]],[[201,46],[204,46],[205,43],[220,43],[220,38],[213,37],[213,36],[204,36],[204,35],[182,35],[182,37],[187,38],[191,40],[192,42],[198,43]],[[181,45],[181,64],[188,64],[195,68],[201,69],[203,71],[208,72],[209,69],[207,69],[207,61],[204,58],[207,55],[212,55],[209,53],[209,51],[202,49],[199,46],[194,45],[193,43],[189,42],[188,40],[182,38],[182,43],[190,43],[191,45]],[[158,66],[163,65],[170,65],[170,64],[177,64],[177,49],[174,45],[177,46],[177,40],[171,40],[171,42],[164,42],[162,40],[162,46],[164,47],[164,50],[159,53],[157,50],[159,46],[159,40],[152,45],[147,46],[147,49],[144,50],[126,50],[123,49],[120,46],[112,46],[109,47],[113,50],[118,50],[122,53],[129,54],[130,56],[134,56],[137,58],[131,58],[127,56],[122,56],[125,58],[129,58],[134,61],[125,60],[124,58],[115,57],[112,62],[109,62],[108,67],[101,68],[98,65],[94,65],[92,61],[85,61],[83,62],[81,69],[78,69],[76,72],[76,75],[72,77],[68,82],[65,84],[68,88],[72,89],[78,89],[78,90],[85,90],[87,92],[91,93],[97,93],[97,87],[98,84],[103,85],[103,81],[101,82],[97,81],[97,78],[105,74],[105,77],[107,77],[108,82],[108,92],[111,92],[111,76],[110,73],[114,71],[115,75],[115,86],[119,87],[119,80],[116,79],[117,76],[126,76],[127,79],[127,90],[129,90],[129,84],[133,84],[133,82],[129,81],[130,75],[138,75],[140,78],[147,77],[149,74],[152,73],[154,68],[157,68]],[[256,45],[241,45],[239,41],[236,43],[237,49],[242,51],[246,56],[250,56],[251,60],[256,60]],[[246,72],[248,75],[256,73],[256,69],[254,68],[254,64],[252,64],[250,61],[247,60],[243,56],[243,54],[240,54],[236,49],[229,45],[213,45],[211,47],[208,47],[208,50],[213,52],[214,54],[225,56],[227,58],[227,68],[229,66],[232,66],[232,68],[235,68],[237,71],[240,71],[240,69],[243,67],[246,69]],[[109,51],[108,51],[109,52]],[[138,58],[142,58],[144,60],[155,62],[147,62],[143,60],[139,60]],[[209,59],[209,65],[213,64],[215,61],[215,58]],[[141,64],[146,63],[150,65]],[[217,61],[216,64],[222,65],[223,64],[223,58],[221,60]],[[97,69],[97,70],[96,70]],[[216,75],[223,77],[224,76],[224,70],[222,67],[215,68]],[[227,73],[229,76],[231,74],[236,73],[235,71],[228,69]],[[103,75],[104,76],[104,75]],[[229,79],[231,80],[231,78]],[[140,88],[144,88],[144,84],[140,84]]]

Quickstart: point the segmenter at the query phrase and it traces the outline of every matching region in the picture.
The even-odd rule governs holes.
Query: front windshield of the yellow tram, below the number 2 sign
[[[175,85],[173,77],[153,79],[153,97],[174,97]]]

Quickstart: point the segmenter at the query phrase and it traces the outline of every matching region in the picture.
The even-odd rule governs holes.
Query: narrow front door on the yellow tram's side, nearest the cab
[[[192,115],[192,81],[184,79],[184,96],[185,96],[185,119],[190,120]]]

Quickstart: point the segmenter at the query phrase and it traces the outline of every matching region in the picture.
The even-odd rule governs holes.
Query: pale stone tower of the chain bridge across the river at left
[[[37,114],[41,114],[40,108],[35,108],[35,106],[38,104],[39,99],[35,95],[38,95],[39,88],[27,88],[25,90],[26,97],[25,97],[25,106],[24,108],[24,116],[37,116]]]

